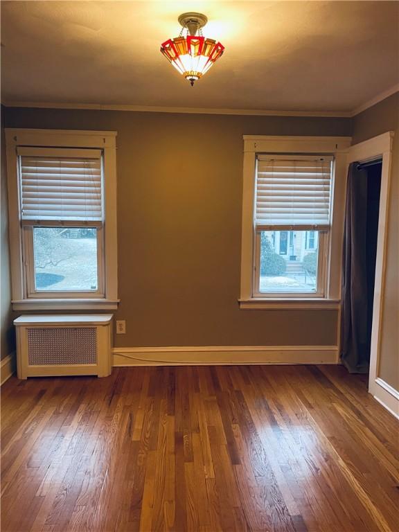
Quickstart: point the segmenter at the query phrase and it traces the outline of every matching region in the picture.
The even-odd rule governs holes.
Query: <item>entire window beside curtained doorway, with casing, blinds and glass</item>
[[[241,308],[337,308],[346,137],[245,137]],[[337,181],[337,169],[339,179]],[[337,181],[337,182],[336,182]],[[309,302],[309,303],[307,303]],[[253,304],[255,303],[255,304]]]

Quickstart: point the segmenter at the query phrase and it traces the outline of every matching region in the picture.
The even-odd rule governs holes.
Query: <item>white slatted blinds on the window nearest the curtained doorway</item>
[[[328,229],[332,157],[258,154],[257,229]]]

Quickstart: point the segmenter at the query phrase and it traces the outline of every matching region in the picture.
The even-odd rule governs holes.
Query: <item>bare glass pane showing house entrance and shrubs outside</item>
[[[318,258],[319,231],[260,231],[260,292],[316,292]]]

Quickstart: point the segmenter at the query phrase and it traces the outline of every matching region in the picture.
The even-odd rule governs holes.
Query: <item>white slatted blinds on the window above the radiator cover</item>
[[[103,220],[101,150],[19,148],[22,220]]]

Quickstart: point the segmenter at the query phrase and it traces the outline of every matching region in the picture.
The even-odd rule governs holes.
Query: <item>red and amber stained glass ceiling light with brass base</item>
[[[202,35],[208,21],[202,13],[183,13],[178,20],[182,26],[179,37],[163,42],[161,52],[193,86],[218,61],[224,46]]]

